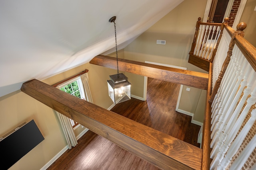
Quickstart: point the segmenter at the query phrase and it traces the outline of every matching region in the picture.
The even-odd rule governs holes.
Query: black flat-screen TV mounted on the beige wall
[[[34,120],[17,127],[0,141],[0,169],[10,168],[43,140],[44,137]]]

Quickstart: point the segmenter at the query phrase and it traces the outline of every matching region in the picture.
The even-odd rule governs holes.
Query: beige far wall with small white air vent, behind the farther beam
[[[194,37],[198,17],[204,16],[206,0],[184,0],[169,14],[155,23],[147,31],[124,49],[125,59],[134,61],[151,61],[187,67],[188,70],[205,72],[188,63],[188,53]],[[156,40],[166,40],[166,45],[156,44]],[[144,82],[143,76],[129,75],[129,81]],[[136,86],[134,86],[136,85]],[[183,87],[179,109],[194,113],[194,120],[203,122],[205,101],[199,100],[202,90]],[[136,90],[134,90],[136,88]],[[132,83],[132,94],[143,97],[144,83]],[[189,102],[188,102],[189,101]],[[199,101],[199,102],[198,102]],[[196,109],[200,107],[200,109]]]

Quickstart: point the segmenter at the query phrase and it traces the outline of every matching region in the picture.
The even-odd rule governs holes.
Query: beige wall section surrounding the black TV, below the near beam
[[[38,170],[66,146],[52,109],[20,90],[0,98],[0,117],[0,136],[34,119],[45,138],[10,170]]]

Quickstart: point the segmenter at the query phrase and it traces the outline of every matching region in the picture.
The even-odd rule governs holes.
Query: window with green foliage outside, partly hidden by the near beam
[[[83,84],[82,84],[80,77],[74,78],[74,79],[60,85],[60,90],[85,100],[84,88],[83,88]],[[79,123],[77,123],[76,121],[74,121],[72,119],[70,119],[70,122],[71,122],[71,125],[73,126],[73,128],[77,127],[77,125],[79,125]]]

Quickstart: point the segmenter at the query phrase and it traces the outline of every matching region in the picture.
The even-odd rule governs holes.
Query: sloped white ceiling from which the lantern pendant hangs
[[[0,96],[118,50],[183,0],[1,0]]]

